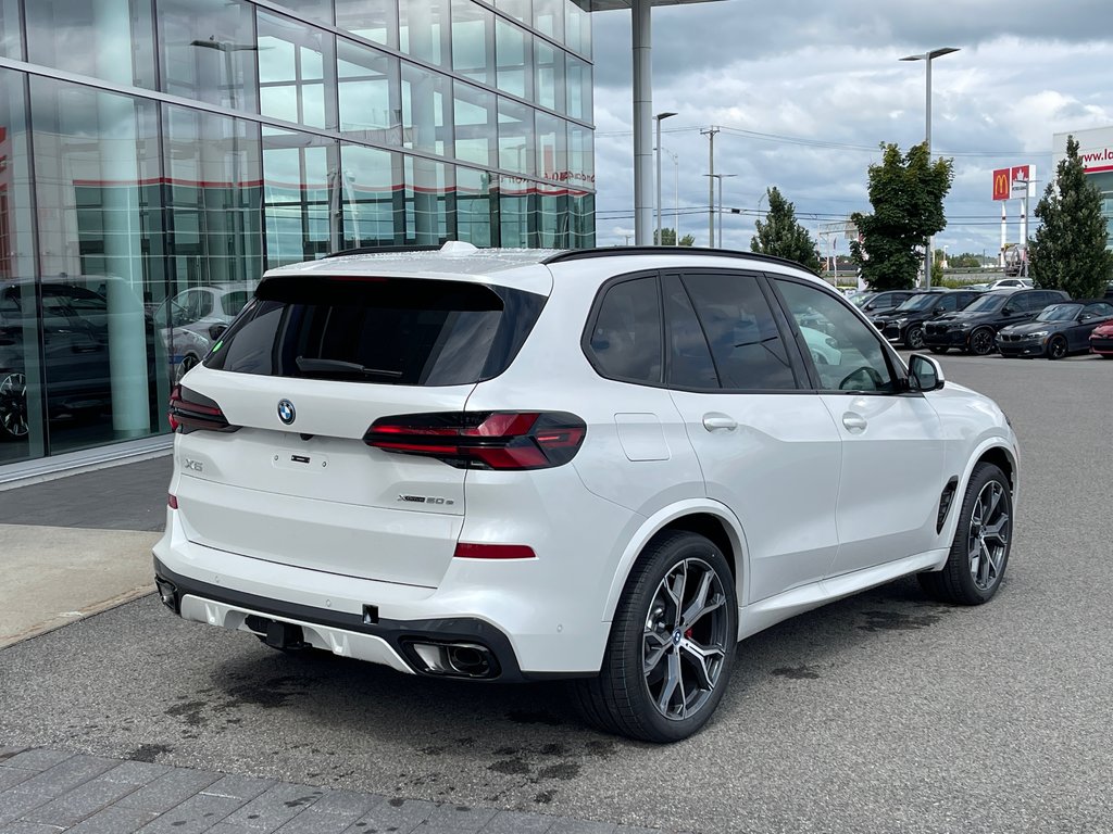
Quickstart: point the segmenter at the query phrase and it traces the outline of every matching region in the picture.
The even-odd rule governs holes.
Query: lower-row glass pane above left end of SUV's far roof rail
[[[402,246],[406,228],[402,155],[342,143],[341,166],[341,248]]]

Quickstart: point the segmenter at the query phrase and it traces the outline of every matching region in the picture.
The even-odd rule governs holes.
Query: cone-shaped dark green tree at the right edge
[[[1106,249],[1101,191],[1086,179],[1073,136],[1066,138],[1066,158],[1036,206],[1036,217],[1043,225],[1028,240],[1036,286],[1066,290],[1072,298],[1100,297],[1113,278],[1113,252]]]

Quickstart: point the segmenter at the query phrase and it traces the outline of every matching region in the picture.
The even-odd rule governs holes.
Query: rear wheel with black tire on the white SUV
[[[599,676],[573,682],[581,712],[600,729],[630,738],[687,738],[722,698],[737,641],[726,557],[703,536],[662,533],[627,579]]]

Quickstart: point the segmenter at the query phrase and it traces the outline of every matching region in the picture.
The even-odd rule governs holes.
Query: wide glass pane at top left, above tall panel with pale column
[[[26,6],[31,63],[155,88],[150,0],[33,0]]]

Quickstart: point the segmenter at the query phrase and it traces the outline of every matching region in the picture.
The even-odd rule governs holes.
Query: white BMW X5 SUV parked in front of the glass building
[[[186,619],[398,672],[578,678],[683,738],[737,641],[917,574],[988,600],[1016,438],[777,258],[351,255],[269,271],[170,404]]]

